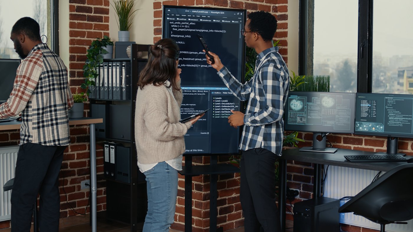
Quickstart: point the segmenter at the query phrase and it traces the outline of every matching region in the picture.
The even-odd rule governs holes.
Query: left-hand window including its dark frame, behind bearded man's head
[[[35,19],[40,26],[40,35],[47,36],[47,45],[58,53],[57,0],[13,0],[0,5],[0,58],[19,59],[14,51],[10,32],[14,23],[22,17]],[[46,37],[42,36],[46,42]]]

